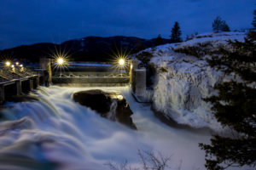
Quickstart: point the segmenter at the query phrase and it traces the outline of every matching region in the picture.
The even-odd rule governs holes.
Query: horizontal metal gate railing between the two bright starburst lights
[[[130,80],[129,71],[118,70],[106,62],[72,63],[67,69],[52,73],[52,81],[56,83],[127,83]]]

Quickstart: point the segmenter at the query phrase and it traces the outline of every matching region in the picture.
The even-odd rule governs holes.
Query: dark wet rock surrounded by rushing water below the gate
[[[81,91],[73,94],[74,101],[90,107],[112,121],[137,129],[131,119],[132,111],[120,92],[105,92],[99,89]]]

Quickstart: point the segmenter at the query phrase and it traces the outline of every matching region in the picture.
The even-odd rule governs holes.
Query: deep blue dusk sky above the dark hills
[[[1,0],[0,49],[87,36],[183,37],[212,31],[220,15],[231,30],[251,27],[255,0]]]

